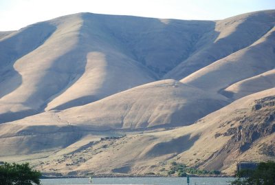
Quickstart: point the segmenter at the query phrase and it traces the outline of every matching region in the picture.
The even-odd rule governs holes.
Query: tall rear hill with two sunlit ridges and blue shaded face
[[[0,41],[0,122],[151,82],[186,58],[211,25],[83,13],[9,34]]]

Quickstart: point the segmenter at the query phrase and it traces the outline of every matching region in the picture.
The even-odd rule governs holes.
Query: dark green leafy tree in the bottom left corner
[[[0,185],[32,185],[40,184],[41,173],[30,168],[30,164],[0,165]]]

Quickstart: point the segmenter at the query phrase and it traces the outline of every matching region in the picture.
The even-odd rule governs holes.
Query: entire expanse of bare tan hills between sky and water
[[[0,160],[55,175],[275,160],[274,24],[79,13],[0,32]]]

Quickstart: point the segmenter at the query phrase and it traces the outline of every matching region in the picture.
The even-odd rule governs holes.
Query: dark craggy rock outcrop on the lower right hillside
[[[210,156],[208,160],[211,162],[206,168],[220,168],[223,166],[223,160],[232,156],[232,153],[241,155],[257,140],[275,132],[275,96],[255,100],[251,107],[252,109],[247,109],[242,116],[221,124],[220,127],[227,124],[232,127],[224,133],[216,133],[214,137],[219,138],[223,135],[231,138],[219,151]],[[274,156],[274,148],[273,145],[262,144],[259,153]]]

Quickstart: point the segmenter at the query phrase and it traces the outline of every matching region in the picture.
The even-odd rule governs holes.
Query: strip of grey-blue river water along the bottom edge
[[[228,185],[233,178],[228,177],[190,177],[190,185]],[[43,185],[50,184],[89,184],[88,178],[79,179],[41,179]],[[110,177],[94,178],[93,184],[159,184],[187,185],[186,177]]]

